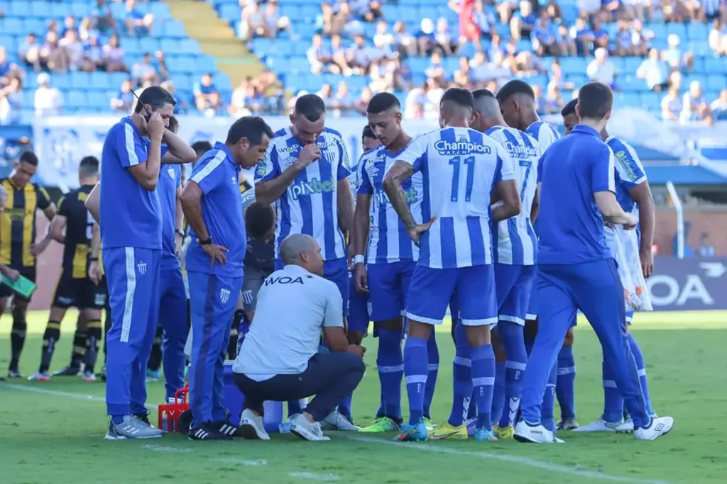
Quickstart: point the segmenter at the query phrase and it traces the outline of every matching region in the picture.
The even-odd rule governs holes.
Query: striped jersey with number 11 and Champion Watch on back
[[[515,179],[507,150],[474,129],[441,128],[411,141],[397,158],[422,173],[422,220],[436,217],[419,240],[419,266],[493,263],[491,192]]]

